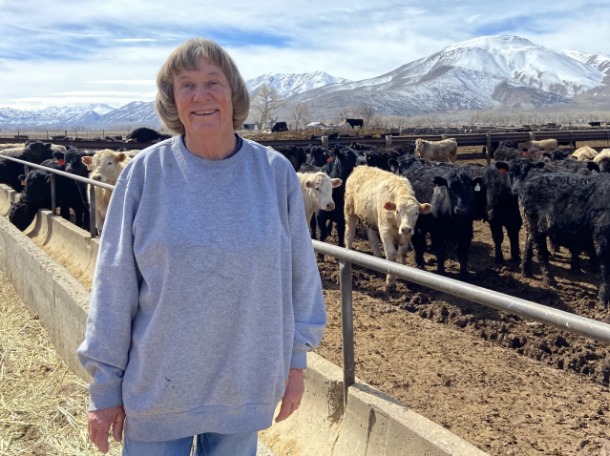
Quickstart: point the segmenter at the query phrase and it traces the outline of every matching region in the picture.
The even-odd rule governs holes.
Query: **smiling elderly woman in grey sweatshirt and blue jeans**
[[[326,313],[299,182],[239,137],[246,84],[195,38],[157,77],[176,133],[121,173],[100,240],[85,340],[89,435],[123,455],[255,455],[303,395]],[[124,429],[123,429],[124,427]],[[124,433],[123,433],[124,430]]]

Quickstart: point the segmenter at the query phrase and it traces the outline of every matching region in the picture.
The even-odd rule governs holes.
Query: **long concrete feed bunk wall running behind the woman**
[[[7,214],[12,190],[0,186],[0,212]],[[13,192],[14,193],[14,192]],[[9,207],[10,207],[10,203]],[[36,242],[34,242],[36,240]],[[44,250],[63,252],[74,261],[84,280],[92,274],[97,241],[50,211],[40,211],[35,222],[20,232],[0,217],[0,261],[23,302],[39,315],[59,355],[82,378],[76,348],[82,342],[87,317],[88,290]],[[57,253],[55,252],[55,253]],[[306,392],[301,408],[288,420],[261,434],[278,455],[400,456],[486,453],[442,426],[409,410],[382,392],[357,381],[343,395],[342,370],[310,354]]]

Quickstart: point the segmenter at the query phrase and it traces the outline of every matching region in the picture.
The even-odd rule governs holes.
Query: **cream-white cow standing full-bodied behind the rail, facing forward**
[[[411,236],[419,214],[432,210],[429,203],[415,198],[411,183],[405,178],[375,167],[357,166],[345,184],[345,246],[352,248],[356,222],[367,227],[373,254],[381,257],[378,229],[386,259],[405,264]],[[395,277],[388,274],[387,288],[394,287]]]

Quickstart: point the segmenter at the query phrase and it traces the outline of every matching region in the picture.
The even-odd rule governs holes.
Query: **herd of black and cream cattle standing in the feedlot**
[[[376,256],[414,263],[424,269],[424,253],[436,257],[436,272],[445,273],[448,252],[455,251],[459,278],[469,280],[468,255],[473,222],[487,222],[494,259],[505,262],[504,235],[510,260],[531,275],[534,252],[545,284],[555,280],[550,250],[565,248],[571,268],[587,267],[599,276],[598,305],[610,303],[610,149],[584,146],[559,149],[556,140],[518,144],[500,141],[493,163],[459,163],[455,139],[417,139],[399,147],[276,146],[292,163],[310,220],[312,237],[326,241],[333,230],[340,246],[352,248],[366,230]],[[114,185],[137,151],[84,151],[32,141],[0,145],[0,154]],[[90,229],[87,185],[56,176],[55,206],[64,218]],[[21,193],[10,221],[25,230],[37,211],[51,208],[51,177],[45,170],[0,158],[0,183]],[[111,190],[96,188],[95,226],[101,232]],[[520,237],[524,248],[520,248]],[[455,249],[448,249],[449,246]],[[386,279],[388,289],[394,278]]]

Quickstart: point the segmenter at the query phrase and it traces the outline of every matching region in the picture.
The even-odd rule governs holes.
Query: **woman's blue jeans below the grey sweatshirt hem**
[[[256,456],[258,432],[216,434],[207,432],[165,442],[138,442],[125,438],[123,456]]]

